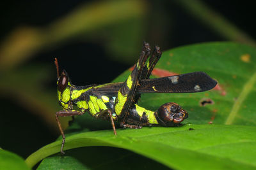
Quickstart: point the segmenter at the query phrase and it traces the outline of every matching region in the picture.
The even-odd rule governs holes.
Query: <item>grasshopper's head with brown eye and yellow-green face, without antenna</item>
[[[70,103],[70,89],[74,87],[70,78],[65,70],[63,70],[57,80],[58,86],[58,101],[64,110],[71,110],[72,104]]]

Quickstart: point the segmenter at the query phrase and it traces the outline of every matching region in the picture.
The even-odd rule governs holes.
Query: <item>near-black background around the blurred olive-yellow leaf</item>
[[[41,110],[41,108],[37,108],[37,105],[34,106],[34,103],[28,100],[39,99],[40,101],[41,94],[37,95],[36,89],[40,89],[43,93],[56,94],[54,57],[58,57],[60,67],[67,70],[74,84],[88,85],[108,83],[131,67],[138,59],[143,40],[149,41],[152,46],[161,46],[163,51],[177,46],[209,41],[239,41],[255,45],[253,41],[256,37],[255,7],[251,1],[189,2],[203,3],[205,6],[202,10],[211,9],[214,14],[224,18],[232,27],[237,27],[241,34],[247,34],[247,38],[252,41],[237,39],[236,36],[230,38],[220,33],[214,27],[212,20],[202,20],[196,17],[193,11],[185,7],[186,5],[177,3],[177,1],[141,2],[147,9],[142,17],[107,24],[107,26],[79,33],[78,36],[71,36],[57,43],[49,43],[44,48],[35,50],[29,57],[22,58],[19,64],[11,64],[10,67],[0,69],[2,77],[0,79],[1,148],[26,158],[38,148],[58,138],[58,131],[52,129],[54,124],[45,122],[42,116],[36,113],[36,110]],[[8,44],[8,39],[15,39],[20,28],[45,28],[60,18],[68,16],[77,8],[92,3],[97,5],[102,1],[1,1],[0,62],[3,62],[1,58],[3,59],[4,56],[1,50],[4,45],[9,45],[11,49],[15,48],[14,43]],[[205,13],[202,12],[202,15]],[[18,33],[13,36],[13,32]],[[47,34],[47,31],[45,33]],[[23,39],[26,39],[26,36]],[[35,71],[35,75],[31,76],[30,73],[33,72],[33,69],[29,69],[31,67],[40,67],[42,71]],[[23,73],[27,68],[28,73],[25,71],[27,74],[25,76],[22,74],[24,77],[19,79],[19,73]],[[49,70],[49,73],[42,73],[45,69]],[[40,76],[43,77],[42,80]],[[36,82],[40,81],[35,83],[31,79],[35,79]],[[7,87],[10,86],[12,88],[8,89]],[[19,93],[25,92],[26,94],[28,89],[24,86],[29,90],[35,88],[35,92],[31,90],[32,92],[29,93],[29,95],[33,94],[29,96],[30,98]],[[57,102],[52,104],[58,105]],[[41,107],[47,108],[48,106]],[[54,119],[54,113],[51,114],[50,117]]]

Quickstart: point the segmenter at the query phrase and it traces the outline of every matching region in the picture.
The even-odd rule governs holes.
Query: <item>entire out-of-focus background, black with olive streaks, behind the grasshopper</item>
[[[0,146],[25,158],[58,138],[54,57],[75,84],[88,85],[108,83],[131,67],[143,40],[162,50],[227,40],[255,46],[251,3],[4,1],[0,7]],[[68,120],[61,119],[64,127]],[[108,124],[91,120],[95,127],[90,125],[87,131]]]

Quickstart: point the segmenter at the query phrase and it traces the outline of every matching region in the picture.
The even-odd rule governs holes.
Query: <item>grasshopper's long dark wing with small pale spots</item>
[[[95,90],[100,94],[115,96],[123,82],[108,83],[101,85]],[[141,80],[140,86],[136,89],[137,93],[193,93],[211,90],[217,85],[217,81],[213,80],[204,72],[194,72],[187,74],[179,74],[175,76],[166,76],[162,78],[152,78]]]

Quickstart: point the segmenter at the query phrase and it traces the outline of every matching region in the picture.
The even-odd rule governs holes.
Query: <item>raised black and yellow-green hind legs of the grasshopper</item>
[[[132,73],[124,82],[124,85],[118,90],[116,97],[115,113],[118,115],[121,127],[125,124],[130,108],[138,103],[140,99],[141,95],[136,93],[137,87],[140,86],[141,80],[149,78],[160,57],[161,51],[158,46],[154,47],[152,55],[150,56],[150,45],[144,42],[140,59],[134,66]]]

